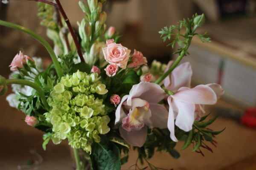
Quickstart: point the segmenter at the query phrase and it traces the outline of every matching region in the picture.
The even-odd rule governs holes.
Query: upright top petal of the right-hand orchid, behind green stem
[[[192,69],[189,62],[177,66],[171,74],[171,85],[167,89],[177,92],[181,87],[190,87]]]

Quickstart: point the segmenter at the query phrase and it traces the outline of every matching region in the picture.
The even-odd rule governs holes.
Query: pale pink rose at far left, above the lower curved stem
[[[27,55],[24,55],[21,51],[19,54],[16,54],[12,60],[11,65],[9,65],[11,71],[18,71],[18,68],[24,68],[23,64],[26,64],[29,60],[34,61]]]

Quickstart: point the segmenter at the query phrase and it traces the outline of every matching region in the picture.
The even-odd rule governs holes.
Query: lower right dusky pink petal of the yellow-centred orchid
[[[166,108],[163,105],[150,103],[149,109],[151,117],[149,121],[144,121],[144,123],[149,127],[167,128],[168,111]]]

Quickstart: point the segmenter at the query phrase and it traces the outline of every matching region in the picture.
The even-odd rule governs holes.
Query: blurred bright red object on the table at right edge
[[[246,109],[245,114],[242,116],[240,122],[247,127],[256,128],[256,108]]]

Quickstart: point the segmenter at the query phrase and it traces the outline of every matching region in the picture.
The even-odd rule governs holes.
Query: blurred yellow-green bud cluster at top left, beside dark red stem
[[[41,26],[49,29],[58,27],[58,21],[50,4],[38,2],[38,17],[42,19]]]

